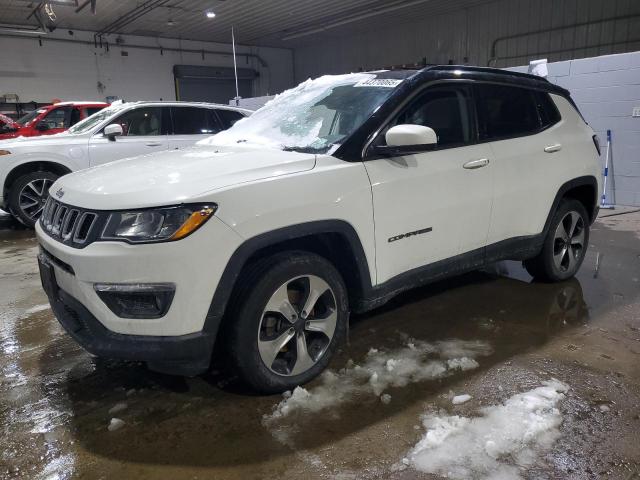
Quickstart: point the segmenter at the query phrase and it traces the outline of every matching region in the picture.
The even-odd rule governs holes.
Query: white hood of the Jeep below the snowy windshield
[[[60,178],[51,195],[69,205],[118,210],[188,203],[231,185],[311,170],[315,155],[196,146],[119,160]]]

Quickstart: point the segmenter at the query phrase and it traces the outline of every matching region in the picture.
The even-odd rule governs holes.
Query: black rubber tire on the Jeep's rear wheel
[[[557,238],[560,223],[570,225],[572,218],[576,218],[572,215],[578,218],[573,237],[565,240]],[[589,224],[589,215],[582,203],[572,198],[563,199],[551,219],[541,252],[524,262],[529,274],[545,282],[560,282],[573,277],[580,269],[589,247]],[[580,248],[578,243],[574,243],[578,240],[581,242]],[[563,250],[565,247],[567,250]],[[562,254],[563,251],[567,253]],[[557,259],[562,260],[560,264]]]

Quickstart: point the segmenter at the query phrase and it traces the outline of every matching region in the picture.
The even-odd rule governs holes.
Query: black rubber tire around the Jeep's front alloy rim
[[[290,285],[297,281],[295,280],[296,278],[304,278],[309,275],[323,280],[331,290],[332,296],[328,298],[334,300],[335,313],[337,314],[335,330],[332,338],[326,337],[325,344],[322,347],[323,353],[316,352],[319,357],[308,370],[295,375],[293,372],[278,374],[272,370],[272,367],[276,365],[276,361],[282,362],[282,364],[286,364],[286,362],[279,359],[279,357],[275,357],[277,360],[272,365],[266,365],[260,353],[259,340],[264,340],[264,338],[259,338],[264,337],[264,333],[261,330],[263,315],[264,318],[267,317],[264,311],[267,303],[283,285]],[[303,280],[300,281],[302,282]],[[239,277],[238,285],[239,288],[234,292],[233,299],[229,305],[229,314],[225,319],[226,338],[224,342],[229,356],[228,360],[231,362],[230,366],[236,371],[240,379],[256,392],[271,394],[291,390],[319,375],[326,368],[336,348],[346,335],[349,315],[347,290],[336,268],[325,258],[313,253],[301,251],[282,252],[258,260],[247,267]],[[285,288],[288,289],[288,286]],[[294,305],[300,315],[298,321],[304,324],[305,321],[301,310],[294,301],[291,302],[291,305]],[[274,330],[279,330],[280,333],[283,333],[284,330],[293,330],[291,324],[284,320],[285,317],[282,316],[281,318],[279,323],[282,325],[282,329],[274,328]],[[306,327],[301,329],[305,330],[307,335],[305,336],[303,332],[302,338],[305,342],[306,340],[304,339],[311,338],[313,335],[320,335],[308,332]],[[274,338],[278,337],[280,333],[276,333]],[[292,352],[289,355],[294,355],[294,348],[295,352],[297,352],[297,344],[295,342],[299,332],[295,335],[291,340],[294,344],[287,343],[286,347],[283,347],[280,352],[285,348],[290,349]],[[314,346],[316,345],[312,345],[312,347]],[[312,350],[309,349],[309,351],[311,352]],[[278,353],[278,356],[282,355],[287,355],[286,350],[284,354]],[[297,357],[297,353],[295,353],[295,356]]]

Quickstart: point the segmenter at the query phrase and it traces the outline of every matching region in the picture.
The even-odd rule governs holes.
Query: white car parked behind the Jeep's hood
[[[0,141],[0,208],[33,227],[58,177],[122,158],[179,150],[251,113],[211,103],[117,103],[58,135]]]

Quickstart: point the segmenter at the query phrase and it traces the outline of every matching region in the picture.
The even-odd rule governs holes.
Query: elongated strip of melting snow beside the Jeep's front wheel
[[[375,395],[386,404],[391,396],[383,396],[383,393],[390,387],[404,387],[472,370],[479,366],[476,357],[491,352],[486,342],[464,340],[414,341],[389,352],[371,349],[362,365],[349,361],[338,373],[326,371],[320,385],[310,390],[297,387],[293,392],[286,392],[284,399],[264,420],[268,424],[293,412],[318,412],[357,395]]]

